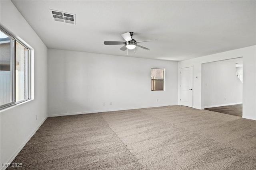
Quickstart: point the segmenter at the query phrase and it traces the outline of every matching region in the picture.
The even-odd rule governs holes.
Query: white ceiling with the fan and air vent
[[[12,0],[48,48],[126,56],[121,34],[149,48],[130,57],[182,61],[256,45],[256,1]],[[76,14],[76,25],[50,10]]]

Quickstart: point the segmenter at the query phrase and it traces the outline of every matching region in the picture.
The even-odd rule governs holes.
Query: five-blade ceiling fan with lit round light
[[[126,51],[126,49],[132,50],[132,49],[135,49],[135,47],[140,47],[142,49],[149,50],[148,48],[137,44],[137,43],[142,43],[142,42],[146,42],[146,41],[138,41],[137,42],[135,39],[132,39],[132,35],[134,35],[133,32],[123,33],[122,37],[124,38],[125,42],[104,41],[104,44],[105,45],[122,45],[122,44],[124,44],[124,46],[120,48],[120,50],[122,50],[122,51]],[[147,41],[155,41],[155,40],[157,40],[157,39],[152,39],[152,40],[147,40]]]

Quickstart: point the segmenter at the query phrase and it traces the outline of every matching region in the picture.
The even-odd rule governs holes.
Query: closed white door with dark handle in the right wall
[[[193,67],[181,68],[180,104],[193,107]]]

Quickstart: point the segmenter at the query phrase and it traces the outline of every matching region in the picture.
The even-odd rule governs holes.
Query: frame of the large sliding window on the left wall
[[[6,29],[4,29],[1,25],[0,25],[0,31],[2,31],[4,34],[8,35],[11,39],[10,41],[10,46],[11,46],[11,61],[10,61],[10,74],[11,74],[11,87],[12,87],[12,102],[7,103],[7,104],[3,104],[2,106],[0,106],[0,110],[6,108],[6,107],[10,107],[10,106],[14,106],[16,104],[20,104],[22,102],[26,102],[28,100],[30,100],[31,96],[30,96],[30,48],[25,45],[24,43],[22,43],[19,39],[17,39],[16,37],[14,37],[12,34],[10,34],[8,31],[6,31]],[[16,102],[16,42],[20,43],[24,48],[27,49],[27,61],[26,61],[26,78],[27,81],[26,83],[28,84],[27,90],[28,90],[28,98],[24,99],[24,100],[20,100],[18,102]]]

